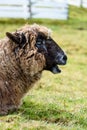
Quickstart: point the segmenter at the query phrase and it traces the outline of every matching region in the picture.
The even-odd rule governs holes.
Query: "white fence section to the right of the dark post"
[[[38,0],[33,4],[32,12],[34,18],[53,18],[53,19],[67,19],[68,18],[68,4],[61,0],[47,1]]]

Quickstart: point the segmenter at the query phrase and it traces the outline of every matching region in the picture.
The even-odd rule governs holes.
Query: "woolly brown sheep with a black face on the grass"
[[[0,40],[0,115],[20,106],[43,70],[59,73],[67,57],[46,27],[26,25]]]

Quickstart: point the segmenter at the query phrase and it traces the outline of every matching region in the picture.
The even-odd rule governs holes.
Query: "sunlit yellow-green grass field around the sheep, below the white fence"
[[[70,19],[0,19],[0,37],[24,23],[39,23],[68,55],[62,73],[44,71],[41,80],[24,97],[18,112],[0,117],[0,130],[87,129],[87,9],[70,7]]]

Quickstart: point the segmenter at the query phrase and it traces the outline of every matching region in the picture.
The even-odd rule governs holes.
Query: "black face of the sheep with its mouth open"
[[[50,70],[55,74],[60,73],[58,65],[65,65],[67,56],[58,44],[51,37],[47,39],[44,34],[40,33],[36,40],[36,47],[38,52],[43,53],[46,58],[45,70]]]

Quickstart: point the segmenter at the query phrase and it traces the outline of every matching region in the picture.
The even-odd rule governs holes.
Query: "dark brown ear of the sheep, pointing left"
[[[26,37],[23,33],[9,33],[6,32],[6,36],[15,42],[16,44],[19,44],[20,47],[22,47],[26,43]]]

